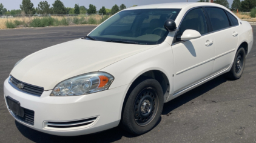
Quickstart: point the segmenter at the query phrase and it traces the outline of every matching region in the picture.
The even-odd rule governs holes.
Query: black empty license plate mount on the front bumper
[[[24,108],[21,107],[21,103],[11,98],[10,96],[6,97],[8,109],[11,110],[15,115],[24,117]]]

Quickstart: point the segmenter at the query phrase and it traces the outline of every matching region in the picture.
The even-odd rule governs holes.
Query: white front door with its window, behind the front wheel
[[[175,85],[174,93],[212,74],[214,67],[214,36],[209,34],[203,8],[194,8],[187,12],[181,21],[172,44]],[[201,38],[177,41],[187,29],[197,30]]]

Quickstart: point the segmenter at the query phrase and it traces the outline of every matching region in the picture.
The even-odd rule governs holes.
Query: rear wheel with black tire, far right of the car
[[[235,54],[235,59],[227,77],[232,80],[240,79],[246,62],[246,54],[243,47],[239,48]]]

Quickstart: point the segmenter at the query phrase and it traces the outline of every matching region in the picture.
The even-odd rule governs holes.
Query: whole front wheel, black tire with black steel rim
[[[146,79],[136,85],[124,103],[121,127],[135,135],[152,130],[160,120],[164,97],[159,82]]]

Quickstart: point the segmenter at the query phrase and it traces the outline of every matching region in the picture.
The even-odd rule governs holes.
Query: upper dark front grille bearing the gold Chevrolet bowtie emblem
[[[30,93],[32,95],[41,96],[44,92],[43,87],[37,87],[35,85],[30,85],[25,82],[19,81],[18,79],[14,78],[13,76],[10,77],[10,82],[12,85],[18,88],[18,90],[24,91],[25,93]],[[22,88],[19,88],[18,84],[22,84]]]

